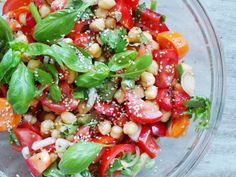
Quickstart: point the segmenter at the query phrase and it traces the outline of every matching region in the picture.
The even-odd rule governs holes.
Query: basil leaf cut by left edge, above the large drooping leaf
[[[9,49],[0,63],[0,81],[4,76],[20,63],[20,54]]]

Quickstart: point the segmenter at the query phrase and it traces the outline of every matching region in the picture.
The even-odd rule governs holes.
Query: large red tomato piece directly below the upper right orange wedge
[[[153,58],[159,64],[159,74],[156,77],[158,88],[168,88],[171,86],[176,76],[176,65],[178,55],[175,50],[154,50]]]

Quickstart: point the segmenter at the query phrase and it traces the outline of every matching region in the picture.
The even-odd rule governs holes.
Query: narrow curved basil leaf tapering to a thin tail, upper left
[[[56,53],[56,51],[54,51],[50,46],[46,44],[33,43],[29,45],[27,53],[31,56],[46,55],[52,57],[56,60],[56,62],[60,65],[60,67],[64,69],[61,57]]]

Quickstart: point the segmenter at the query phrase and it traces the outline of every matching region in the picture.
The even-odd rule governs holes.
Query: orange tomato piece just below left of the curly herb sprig
[[[167,136],[174,138],[184,136],[189,124],[190,118],[188,115],[182,115],[179,118],[173,119],[167,131]]]

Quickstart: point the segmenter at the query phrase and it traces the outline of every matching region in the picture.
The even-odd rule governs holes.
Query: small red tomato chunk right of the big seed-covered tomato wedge
[[[173,107],[173,93],[170,89],[159,89],[157,94],[157,103],[161,109],[170,111]]]

